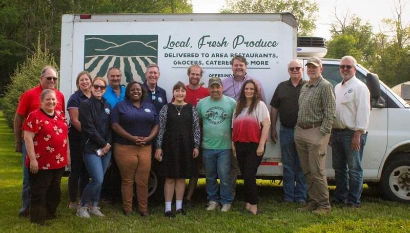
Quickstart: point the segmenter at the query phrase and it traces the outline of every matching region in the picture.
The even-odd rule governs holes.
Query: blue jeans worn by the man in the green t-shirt
[[[208,201],[220,202],[224,205],[231,204],[234,200],[229,175],[231,154],[232,150],[203,149],[202,163],[207,181]],[[220,196],[218,195],[217,178],[220,180]]]

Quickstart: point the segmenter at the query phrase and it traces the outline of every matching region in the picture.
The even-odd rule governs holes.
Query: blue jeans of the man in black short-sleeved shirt
[[[308,186],[300,166],[298,152],[296,151],[294,133],[294,129],[280,126],[279,139],[283,165],[283,200],[306,202]]]

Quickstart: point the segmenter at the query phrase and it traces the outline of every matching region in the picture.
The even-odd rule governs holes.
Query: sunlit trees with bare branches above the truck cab
[[[393,15],[382,20],[385,31],[379,33],[356,15],[335,13],[326,57],[352,55],[389,87],[410,80],[410,25],[402,20],[404,5],[395,1]]]

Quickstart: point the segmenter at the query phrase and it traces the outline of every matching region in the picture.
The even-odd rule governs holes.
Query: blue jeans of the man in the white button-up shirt
[[[332,165],[335,170],[336,189],[333,200],[340,203],[360,205],[363,189],[361,161],[367,133],[360,137],[360,150],[351,148],[354,131],[332,132]],[[346,200],[347,196],[347,200]]]

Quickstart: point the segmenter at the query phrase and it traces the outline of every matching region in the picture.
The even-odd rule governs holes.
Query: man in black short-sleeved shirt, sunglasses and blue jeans
[[[294,59],[288,64],[289,80],[279,83],[271,100],[271,138],[277,140],[276,121],[280,116],[280,150],[283,165],[283,201],[306,203],[306,181],[300,166],[294,141],[294,129],[298,117],[300,89],[306,83],[302,79],[303,63]],[[295,185],[296,181],[296,185]]]

